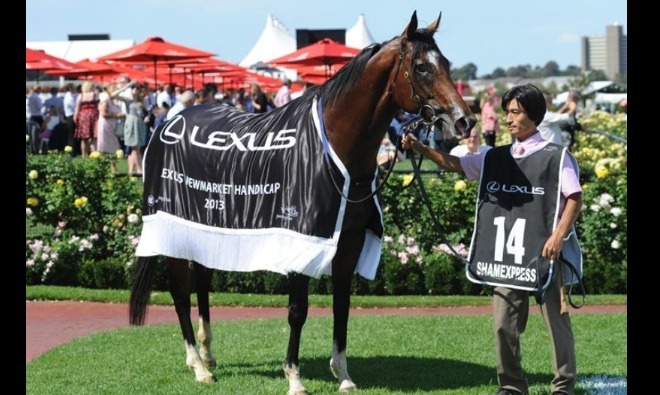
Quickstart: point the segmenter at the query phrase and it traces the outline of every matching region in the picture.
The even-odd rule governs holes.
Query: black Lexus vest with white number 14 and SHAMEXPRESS
[[[475,283],[537,291],[552,276],[553,262],[541,252],[557,226],[565,149],[548,143],[513,158],[510,148],[484,158],[466,274]]]

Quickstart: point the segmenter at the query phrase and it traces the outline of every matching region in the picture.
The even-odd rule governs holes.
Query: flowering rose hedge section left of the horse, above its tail
[[[26,282],[126,287],[141,227],[138,179],[118,177],[116,157],[27,155]],[[102,264],[102,262],[104,264]],[[108,282],[97,271],[113,267]],[[106,273],[107,274],[107,273]]]

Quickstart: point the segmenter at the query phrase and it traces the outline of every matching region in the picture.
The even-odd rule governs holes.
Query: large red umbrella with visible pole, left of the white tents
[[[197,49],[184,47],[163,40],[160,37],[149,37],[140,44],[101,56],[102,61],[117,61],[128,64],[153,63],[154,80],[158,80],[157,63],[173,63],[182,60],[208,58],[214,54]],[[171,81],[170,81],[171,82]]]

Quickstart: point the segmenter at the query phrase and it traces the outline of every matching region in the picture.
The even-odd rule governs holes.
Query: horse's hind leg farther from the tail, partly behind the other
[[[211,341],[213,333],[211,332],[211,312],[209,310],[209,289],[211,288],[211,278],[213,269],[194,262],[195,278],[197,286],[197,305],[199,307],[199,329],[197,338],[199,339],[199,355],[202,362],[209,368],[215,368],[216,362],[211,352]]]

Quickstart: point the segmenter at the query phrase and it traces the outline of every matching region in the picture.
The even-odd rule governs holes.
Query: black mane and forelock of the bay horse
[[[440,49],[438,48],[438,45],[433,38],[433,33],[434,32],[426,28],[418,29],[417,31],[413,32],[410,40],[413,44],[413,58],[417,58],[420,53],[430,50],[436,50],[440,52]],[[325,83],[308,88],[301,99],[311,104],[315,96],[320,96],[322,99],[323,107],[327,107],[334,101],[344,98],[350,88],[358,81],[360,75],[362,75],[364,66],[367,64],[369,59],[371,59],[371,57],[374,56],[382,47],[396,40],[397,38],[399,38],[399,36],[395,36],[390,40],[384,41],[380,44],[375,43],[363,48],[353,59],[351,59],[350,62],[342,67]],[[445,59],[447,62],[447,67],[449,67],[449,62],[446,60],[446,58],[444,56],[441,56],[441,58]]]

